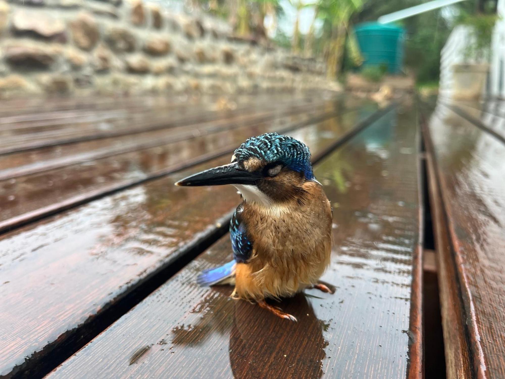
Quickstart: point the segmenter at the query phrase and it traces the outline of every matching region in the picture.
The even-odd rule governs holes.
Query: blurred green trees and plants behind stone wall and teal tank
[[[423,3],[426,0],[189,0],[185,6],[226,19],[239,36],[268,36],[295,54],[324,57],[328,77],[342,79],[363,61],[355,25]],[[415,76],[418,86],[436,85],[440,51],[452,28],[472,25],[480,41],[489,43],[496,4],[467,0],[397,22],[406,30],[405,72]],[[478,54],[476,49],[468,54]],[[379,71],[368,69],[364,74],[378,80]]]

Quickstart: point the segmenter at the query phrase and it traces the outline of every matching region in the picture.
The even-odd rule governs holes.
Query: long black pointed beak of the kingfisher
[[[241,169],[237,163],[214,167],[198,172],[179,180],[175,185],[222,185],[222,184],[255,184],[262,176],[256,172]]]

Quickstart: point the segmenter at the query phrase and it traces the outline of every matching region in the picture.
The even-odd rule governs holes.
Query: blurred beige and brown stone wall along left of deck
[[[206,15],[132,0],[0,0],[0,97],[335,89],[325,66]]]

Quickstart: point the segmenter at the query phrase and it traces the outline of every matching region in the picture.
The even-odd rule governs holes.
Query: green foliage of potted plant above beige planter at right
[[[466,25],[471,28],[470,43],[464,51],[465,60],[489,60],[491,51],[491,36],[493,26],[497,20],[496,15],[461,13],[458,18],[458,24]]]

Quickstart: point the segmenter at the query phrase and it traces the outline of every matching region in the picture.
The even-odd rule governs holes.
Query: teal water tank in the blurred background
[[[363,67],[386,65],[387,71],[397,74],[403,65],[403,28],[366,22],[355,28],[363,55]]]

